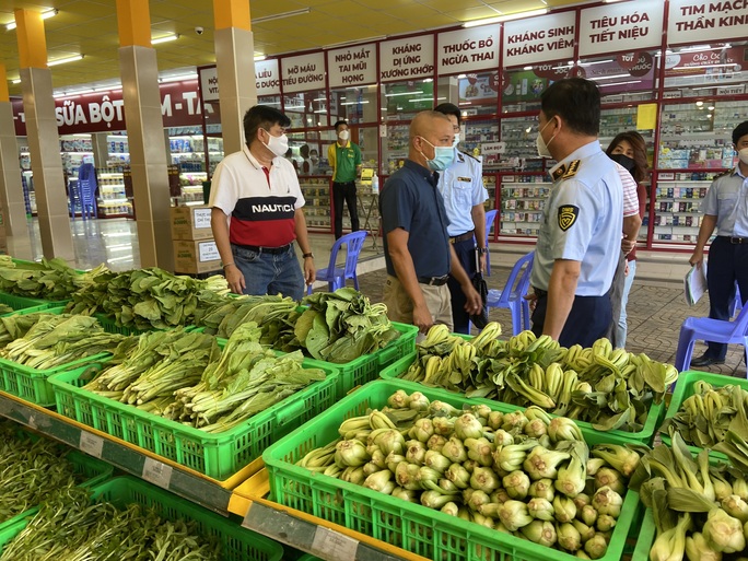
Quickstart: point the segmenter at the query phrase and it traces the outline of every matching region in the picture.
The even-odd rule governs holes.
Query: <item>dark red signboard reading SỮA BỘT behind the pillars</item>
[[[171,82],[160,84],[161,114],[164,127],[201,126],[198,81]],[[26,121],[23,101],[11,100],[15,135],[26,136]],[[60,135],[80,132],[109,132],[125,130],[125,102],[122,91],[94,92],[70,95],[55,100],[57,130]]]

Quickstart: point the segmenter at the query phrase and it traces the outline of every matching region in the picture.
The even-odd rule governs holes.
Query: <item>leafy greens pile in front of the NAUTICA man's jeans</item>
[[[400,334],[387,318],[384,304],[372,304],[353,289],[319,292],[304,297],[300,311],[291,299],[238,297],[218,302],[196,325],[230,337],[246,322],[262,328],[261,342],[284,352],[303,351],[315,359],[342,364],[384,348]]]

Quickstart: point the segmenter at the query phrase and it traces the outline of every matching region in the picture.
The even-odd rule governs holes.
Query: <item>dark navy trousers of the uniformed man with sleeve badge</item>
[[[540,337],[546,322],[548,295],[544,294],[537,300],[533,313],[533,332]],[[561,330],[559,343],[561,347],[581,344],[584,348],[605,337],[610,327],[611,318],[610,294],[604,296],[574,296],[571,312]]]

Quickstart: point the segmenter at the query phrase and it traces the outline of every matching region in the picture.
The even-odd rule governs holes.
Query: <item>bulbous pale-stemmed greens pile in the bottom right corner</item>
[[[740,457],[738,455],[738,457]],[[709,452],[696,459],[678,432],[673,447],[644,455],[631,478],[631,488],[652,509],[656,538],[652,561],[683,559],[718,561],[745,559],[748,544],[748,477],[736,467],[710,466]]]

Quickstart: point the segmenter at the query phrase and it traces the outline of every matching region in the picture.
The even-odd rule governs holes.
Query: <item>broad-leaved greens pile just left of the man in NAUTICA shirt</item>
[[[113,317],[117,325],[140,330],[167,329],[192,323],[196,309],[229,292],[221,276],[206,280],[175,276],[156,267],[106,271],[72,294],[67,312]]]

